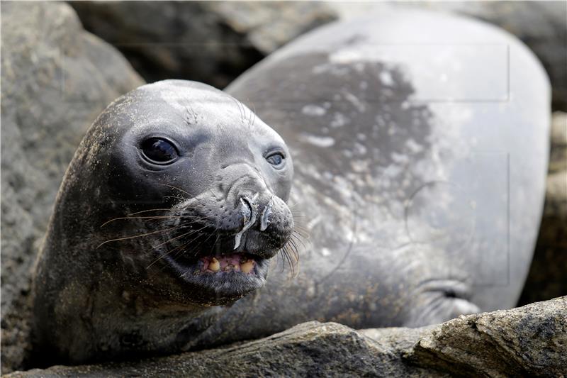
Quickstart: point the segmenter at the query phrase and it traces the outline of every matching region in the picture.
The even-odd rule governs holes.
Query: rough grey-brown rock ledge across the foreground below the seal
[[[228,348],[6,377],[563,377],[566,313],[561,297],[425,328],[308,322]]]

